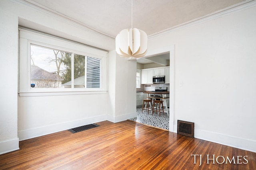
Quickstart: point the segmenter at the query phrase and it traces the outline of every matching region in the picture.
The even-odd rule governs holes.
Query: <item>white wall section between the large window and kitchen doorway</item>
[[[118,122],[136,117],[136,61],[120,57],[115,50],[109,51],[108,71],[110,106],[108,120]]]

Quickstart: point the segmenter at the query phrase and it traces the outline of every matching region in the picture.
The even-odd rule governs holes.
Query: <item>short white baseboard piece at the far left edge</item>
[[[19,150],[19,138],[0,142],[0,154]]]

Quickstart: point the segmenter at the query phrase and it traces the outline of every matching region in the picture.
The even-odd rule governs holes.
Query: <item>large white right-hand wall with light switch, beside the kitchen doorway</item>
[[[148,41],[148,53],[175,45],[175,126],[191,121],[196,138],[256,152],[255,21],[253,7]]]

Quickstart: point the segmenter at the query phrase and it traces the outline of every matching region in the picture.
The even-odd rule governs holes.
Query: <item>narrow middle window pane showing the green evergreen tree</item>
[[[84,88],[85,56],[74,54],[74,88]]]

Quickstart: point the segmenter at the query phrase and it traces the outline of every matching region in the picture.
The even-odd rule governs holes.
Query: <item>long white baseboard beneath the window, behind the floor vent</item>
[[[72,129],[74,127],[79,127],[79,126],[88,125],[95,122],[105,121],[106,118],[107,118],[106,115],[99,115],[96,117],[88,117],[85,119],[78,119],[74,121],[52,124],[52,125],[37,127],[33,129],[26,129],[26,130],[18,131],[18,137],[20,141],[24,141],[26,139],[32,139],[34,137],[40,137],[40,136],[48,135],[51,133],[65,131],[68,129]]]

